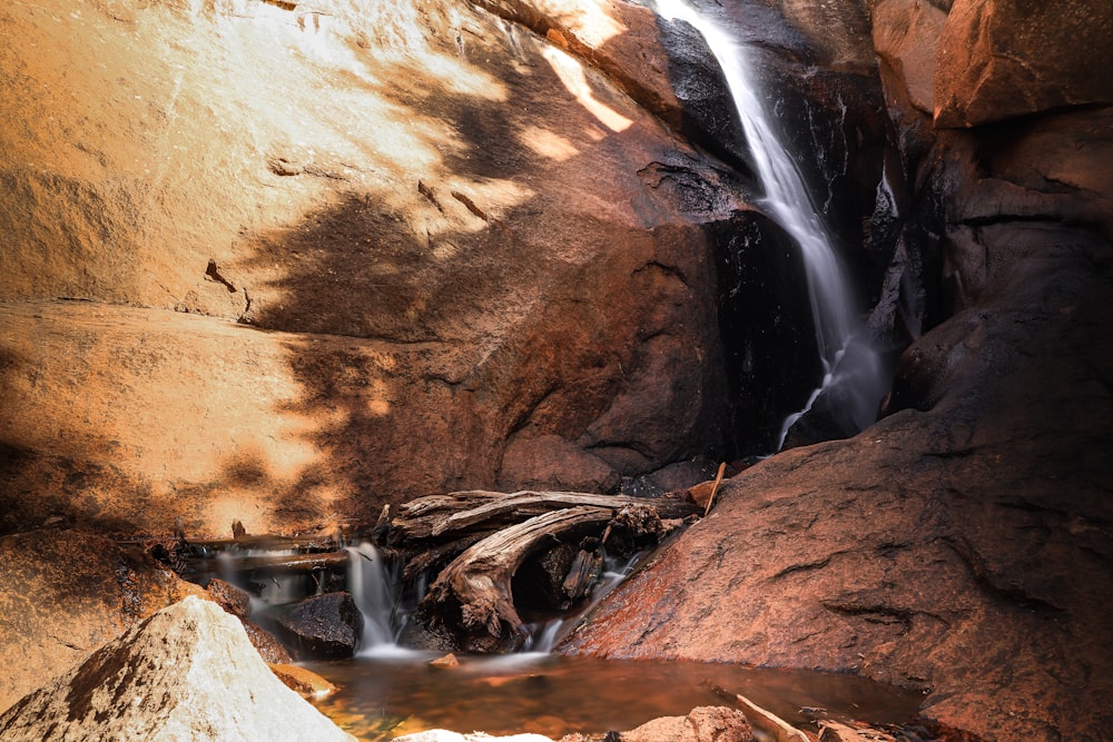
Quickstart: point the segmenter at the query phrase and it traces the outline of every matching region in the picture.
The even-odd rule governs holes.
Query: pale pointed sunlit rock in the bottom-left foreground
[[[353,740],[272,674],[233,616],[190,596],[0,716],[6,740]]]

